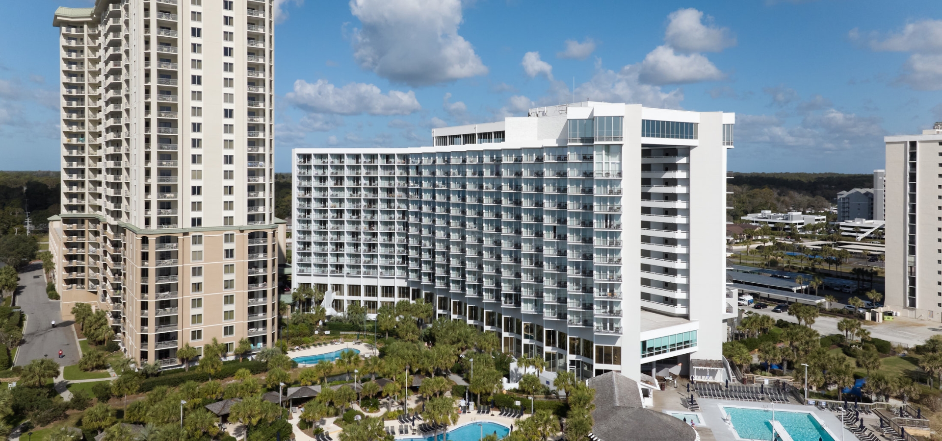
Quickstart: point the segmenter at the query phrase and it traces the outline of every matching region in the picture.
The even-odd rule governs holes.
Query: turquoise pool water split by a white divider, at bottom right
[[[771,410],[723,407],[733,421],[733,429],[740,438],[771,439]],[[795,441],[834,441],[821,427],[818,419],[806,412],[775,412],[775,420],[782,424]]]

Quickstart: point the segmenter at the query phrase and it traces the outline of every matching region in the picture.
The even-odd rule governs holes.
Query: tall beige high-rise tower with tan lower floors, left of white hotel
[[[277,338],[271,0],[58,8],[63,320],[105,309],[124,352],[178,365]]]

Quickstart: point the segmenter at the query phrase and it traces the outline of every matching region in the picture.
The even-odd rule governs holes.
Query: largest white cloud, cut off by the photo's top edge
[[[350,0],[362,24],[352,35],[361,68],[413,87],[487,74],[471,43],[458,35],[459,0]]]

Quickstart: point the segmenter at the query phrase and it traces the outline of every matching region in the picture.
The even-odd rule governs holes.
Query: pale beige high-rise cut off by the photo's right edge
[[[885,137],[886,305],[942,320],[942,122]]]

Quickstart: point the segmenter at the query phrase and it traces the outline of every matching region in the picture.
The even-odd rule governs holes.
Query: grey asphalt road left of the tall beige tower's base
[[[78,362],[73,322],[59,323],[59,302],[49,300],[46,295],[46,283],[42,277],[42,264],[32,263],[20,272],[20,291],[16,294],[16,304],[26,316],[26,328],[23,332],[24,343],[16,353],[16,366],[29,364],[31,360],[48,355],[60,366],[69,366]],[[51,327],[52,321],[56,327]],[[58,358],[59,350],[63,357]]]

